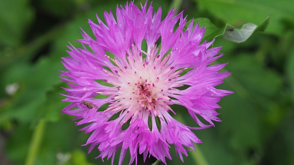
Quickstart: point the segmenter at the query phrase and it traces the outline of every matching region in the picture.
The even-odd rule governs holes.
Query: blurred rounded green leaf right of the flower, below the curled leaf
[[[239,55],[230,59],[230,63],[225,69],[233,72],[226,80],[235,86],[234,91],[245,90],[246,93],[240,93],[244,97],[254,93],[254,98],[249,96],[252,101],[260,95],[274,97],[282,87],[281,77],[273,70],[264,67],[260,61],[250,57],[250,55]],[[241,83],[240,85],[244,87],[244,90],[240,90],[237,83]]]

